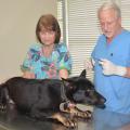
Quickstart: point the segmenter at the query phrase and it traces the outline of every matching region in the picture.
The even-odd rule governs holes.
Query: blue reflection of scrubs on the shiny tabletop
[[[93,130],[130,130],[130,114],[101,108],[94,108],[92,114]]]

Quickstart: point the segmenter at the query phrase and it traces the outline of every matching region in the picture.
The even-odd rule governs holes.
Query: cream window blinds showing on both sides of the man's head
[[[73,57],[72,76],[79,75],[84,68],[91,52],[101,34],[98,9],[106,0],[60,0],[62,1],[63,30],[65,42]],[[130,29],[130,0],[112,0],[119,4],[122,15],[122,26]],[[102,50],[101,50],[102,51]],[[93,79],[93,72],[87,72],[87,77]]]

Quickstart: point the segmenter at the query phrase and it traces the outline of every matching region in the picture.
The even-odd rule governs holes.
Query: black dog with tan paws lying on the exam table
[[[76,126],[74,120],[66,118],[66,114],[90,116],[89,112],[81,112],[76,106],[68,107],[68,104],[105,107],[104,102],[105,99],[86,78],[86,70],[82,70],[79,77],[62,80],[14,77],[0,86],[1,104],[8,104],[9,107],[13,104],[20,112],[38,119],[56,119],[66,127]]]

